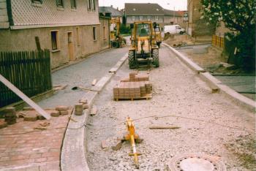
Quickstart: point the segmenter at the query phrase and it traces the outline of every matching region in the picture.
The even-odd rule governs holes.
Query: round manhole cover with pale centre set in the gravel
[[[168,167],[170,171],[226,171],[219,157],[199,153],[175,156]]]

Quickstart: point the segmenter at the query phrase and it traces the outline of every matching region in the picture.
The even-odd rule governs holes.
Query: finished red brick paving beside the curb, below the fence
[[[61,145],[69,116],[60,115],[50,121],[23,121],[23,118],[18,118],[17,123],[0,129],[0,170],[26,167],[28,164],[47,165],[49,170],[50,167],[60,170]],[[50,123],[46,130],[34,129],[44,122]],[[49,162],[53,164],[49,165]]]

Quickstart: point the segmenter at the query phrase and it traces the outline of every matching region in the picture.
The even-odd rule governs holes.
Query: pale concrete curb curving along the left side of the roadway
[[[114,66],[116,71],[122,66],[122,64],[124,64],[127,57],[128,56],[126,54],[126,56],[121,58],[121,60],[119,60]],[[90,170],[86,159],[86,122],[95,97],[100,91],[102,91],[115,73],[116,72],[108,73],[97,82],[94,88],[98,92],[88,91],[85,96],[83,96],[81,100],[87,100],[88,102],[88,109],[83,110],[83,115],[75,115],[75,111],[72,112],[61,148],[61,170]]]

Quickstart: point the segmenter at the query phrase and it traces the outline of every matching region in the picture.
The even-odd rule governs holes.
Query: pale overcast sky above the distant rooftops
[[[156,3],[165,9],[187,10],[187,0],[99,0],[99,6],[113,5],[119,9],[124,9],[124,3]]]

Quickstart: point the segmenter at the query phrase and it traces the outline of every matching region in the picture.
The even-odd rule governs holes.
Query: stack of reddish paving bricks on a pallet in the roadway
[[[121,80],[113,88],[113,96],[116,101],[119,99],[151,99],[152,84],[146,74],[129,74],[129,78]]]

